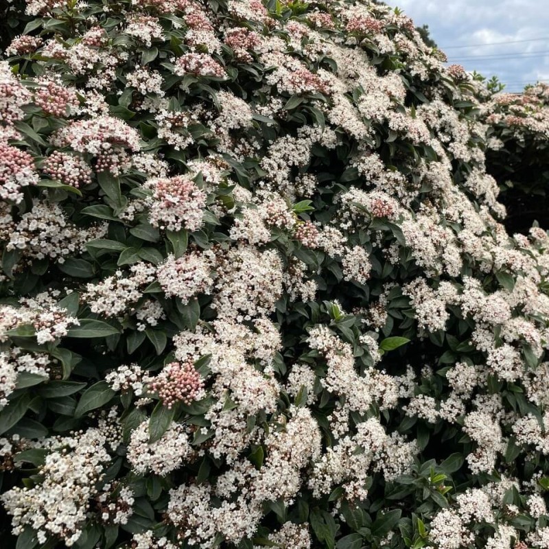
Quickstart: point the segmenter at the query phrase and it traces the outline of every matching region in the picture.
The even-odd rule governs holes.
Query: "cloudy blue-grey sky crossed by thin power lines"
[[[388,3],[404,10],[417,26],[429,25],[449,62],[487,77],[497,75],[506,91],[520,91],[537,80],[549,83],[549,0]]]

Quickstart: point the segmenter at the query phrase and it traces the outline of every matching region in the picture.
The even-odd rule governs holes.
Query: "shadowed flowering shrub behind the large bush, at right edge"
[[[527,232],[534,220],[545,229],[549,207],[549,86],[500,93],[483,105],[489,125],[487,171],[498,180],[510,231]]]

